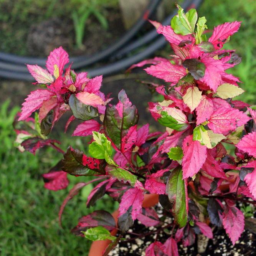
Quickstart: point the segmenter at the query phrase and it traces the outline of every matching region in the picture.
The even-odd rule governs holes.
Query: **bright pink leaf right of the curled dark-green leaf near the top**
[[[205,75],[200,81],[206,83],[214,92],[221,84],[221,73],[224,72],[223,64],[219,59],[213,59],[207,54],[202,55],[201,62],[205,64]]]

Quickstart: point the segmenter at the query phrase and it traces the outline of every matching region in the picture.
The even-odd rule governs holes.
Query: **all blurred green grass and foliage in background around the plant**
[[[31,24],[51,17],[67,19],[72,23],[71,14],[74,10],[79,10],[84,5],[89,6],[92,1],[94,0],[0,0],[1,51],[13,53],[18,51],[20,55],[26,54],[23,44],[17,45],[17,41],[26,40],[27,29]],[[97,0],[96,3],[100,13],[106,18],[108,8],[118,11],[118,0]],[[254,0],[205,0],[198,9],[198,15],[206,17],[209,30],[226,21],[243,21],[238,33],[231,37],[225,47],[236,49],[238,55],[242,57],[241,64],[230,69],[230,72],[241,79],[243,82],[241,88],[246,91],[238,99],[250,104],[256,102],[255,13]],[[157,54],[167,57],[170,55],[170,47],[166,46]],[[43,149],[35,156],[28,152],[23,154],[18,152],[13,148],[15,132],[12,130],[12,122],[19,107],[10,107],[10,102],[7,101],[2,103],[0,109],[0,254],[4,256],[86,255],[89,242],[82,237],[72,235],[70,228],[77,224],[79,217],[90,213],[94,208],[113,211],[117,205],[111,199],[103,198],[94,208],[87,209],[86,198],[92,185],[85,187],[66,206],[63,215],[64,228],[61,229],[57,221],[61,202],[74,183],[88,178],[69,176],[68,189],[58,192],[43,188],[41,174],[48,172],[61,155],[53,149]],[[84,148],[83,138],[64,135],[62,130],[55,135],[61,141],[63,149],[68,145]]]

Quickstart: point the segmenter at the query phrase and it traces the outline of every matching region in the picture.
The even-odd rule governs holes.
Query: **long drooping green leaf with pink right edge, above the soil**
[[[185,195],[185,183],[182,180],[182,168],[175,168],[168,178],[166,193],[169,201],[173,203],[172,213],[176,224],[183,228],[187,224],[187,207]]]

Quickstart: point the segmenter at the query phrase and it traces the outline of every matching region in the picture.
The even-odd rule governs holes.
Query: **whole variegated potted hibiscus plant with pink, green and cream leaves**
[[[14,122],[16,144],[31,153],[46,145],[64,153],[63,160],[43,175],[47,189],[66,188],[68,175],[93,177],[69,191],[59,221],[66,203],[89,183],[97,185],[88,196],[88,207],[105,194],[120,203],[117,224],[110,213],[97,210],[73,228],[75,234],[93,241],[112,240],[105,255],[126,240],[136,219],[156,230],[135,233],[135,238],[170,230],[166,241],[147,247],[148,256],[176,256],[178,242],[192,245],[199,233],[211,239],[216,226],[223,226],[235,244],[244,230],[239,203],[254,204],[256,198],[256,111],[232,100],[243,89],[239,78],[226,70],[241,58],[235,50],[222,49],[240,22],[216,26],[208,40],[206,19],[198,18],[195,9],[184,13],[178,6],[170,26],[150,22],[174,54],[131,68],[152,64],[145,71],[164,80],[153,84],[164,101],[149,102],[149,111],[165,132],[150,133],[148,124],[137,126],[137,108],[124,90],[117,104],[111,104],[112,99],[100,91],[102,76],[88,78],[71,65],[64,71],[69,58],[59,47],[48,57],[48,71],[27,65],[35,84],[43,88],[32,91],[23,103]],[[58,141],[46,137],[64,112],[71,114],[65,130],[79,119],[73,136],[92,135],[87,155],[72,147],[63,152]],[[168,215],[159,217],[154,208],[143,207],[149,195],[159,197]],[[172,221],[167,223],[169,215]]]

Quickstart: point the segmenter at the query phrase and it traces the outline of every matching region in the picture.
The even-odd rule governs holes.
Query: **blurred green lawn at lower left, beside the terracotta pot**
[[[89,241],[70,233],[78,218],[94,209],[113,211],[116,205],[103,198],[94,208],[86,208],[92,185],[85,187],[69,201],[63,214],[63,229],[58,225],[58,210],[68,190],[87,177],[69,175],[70,185],[57,192],[46,190],[42,173],[54,165],[61,155],[53,149],[41,150],[35,156],[20,153],[13,147],[15,132],[12,121],[18,108],[7,111],[8,102],[0,111],[0,254],[3,256],[87,255]],[[64,138],[64,137],[63,137]],[[77,139],[62,139],[63,149]]]

